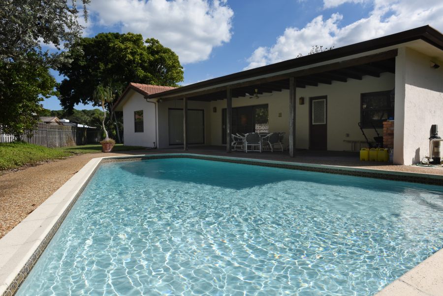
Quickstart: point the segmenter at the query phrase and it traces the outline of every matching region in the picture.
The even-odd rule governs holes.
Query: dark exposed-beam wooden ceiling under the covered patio
[[[362,80],[363,76],[380,77],[381,73],[395,73],[395,58],[388,58],[386,60],[369,62],[366,64],[348,66],[344,68],[337,68],[326,70],[315,74],[301,75],[296,77],[296,87],[306,88],[306,86],[318,86],[319,84],[332,84],[334,81],[348,82],[348,79]],[[282,90],[289,90],[289,79],[281,79],[270,82],[260,82],[248,86],[232,88],[232,97],[247,97],[255,93],[262,95],[264,93],[281,92]],[[249,94],[249,95],[247,95]],[[217,90],[211,92],[208,90],[203,94],[196,96],[187,96],[189,100],[196,101],[212,101],[219,99],[226,99],[226,90]],[[178,98],[176,98],[178,99]]]

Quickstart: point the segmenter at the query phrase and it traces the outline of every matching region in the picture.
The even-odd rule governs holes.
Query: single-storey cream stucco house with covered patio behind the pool
[[[229,150],[230,133],[267,129],[285,132],[290,155],[350,150],[359,122],[372,139],[394,119],[394,163],[413,164],[429,155],[431,125],[443,130],[440,65],[443,35],[424,26],[180,88],[131,83],[113,108],[126,145]]]

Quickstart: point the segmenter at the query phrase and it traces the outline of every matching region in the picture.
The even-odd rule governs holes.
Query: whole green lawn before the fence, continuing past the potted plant
[[[112,151],[144,149],[139,146],[116,144]],[[17,168],[52,159],[63,159],[73,154],[101,152],[101,144],[83,146],[46,148],[28,143],[0,143],[0,170]]]

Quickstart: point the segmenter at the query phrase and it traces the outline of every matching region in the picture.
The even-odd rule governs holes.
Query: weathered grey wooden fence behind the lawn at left
[[[22,140],[49,148],[97,143],[100,136],[101,132],[94,128],[79,128],[39,122],[33,131],[17,139],[11,134],[3,133],[0,127],[0,143]]]

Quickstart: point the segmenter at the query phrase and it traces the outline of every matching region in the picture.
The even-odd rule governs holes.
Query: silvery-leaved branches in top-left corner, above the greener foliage
[[[85,20],[89,2],[82,0]],[[0,59],[4,63],[28,60],[44,66],[58,65],[63,54],[42,51],[41,43],[69,48],[83,30],[78,15],[76,0],[2,0]]]

